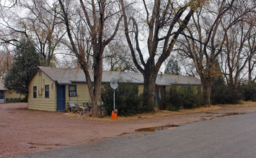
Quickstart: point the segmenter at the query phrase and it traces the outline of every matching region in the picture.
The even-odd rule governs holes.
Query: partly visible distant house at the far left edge
[[[0,80],[0,103],[19,102],[22,98],[25,98],[25,96],[16,90],[7,90],[4,88],[3,81]]]

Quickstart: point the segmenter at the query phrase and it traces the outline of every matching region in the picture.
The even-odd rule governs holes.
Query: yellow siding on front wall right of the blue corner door
[[[69,96],[69,85],[66,85],[66,109],[69,109],[69,101],[76,101],[79,105],[82,105],[83,101],[91,101],[87,83],[73,83],[71,85],[76,85],[76,96]]]

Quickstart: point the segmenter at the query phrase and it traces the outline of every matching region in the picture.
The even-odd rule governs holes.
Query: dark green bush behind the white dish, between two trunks
[[[118,116],[131,116],[146,111],[142,106],[141,98],[138,96],[138,85],[118,83],[118,88],[115,90],[115,108],[118,109]],[[110,115],[113,111],[113,90],[109,84],[102,88],[102,101],[105,112]]]

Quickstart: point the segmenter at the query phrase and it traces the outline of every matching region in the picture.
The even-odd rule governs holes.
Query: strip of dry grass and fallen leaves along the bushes
[[[210,106],[210,107],[200,107],[200,108],[193,108],[193,109],[182,109],[180,111],[166,111],[166,110],[159,110],[155,113],[141,113],[136,114],[134,116],[118,116],[117,121],[131,121],[136,119],[148,119],[148,118],[155,118],[155,117],[162,117],[162,116],[169,116],[169,115],[179,115],[184,113],[198,113],[198,112],[205,112],[205,111],[213,111],[213,110],[219,110],[223,108],[223,106],[229,106],[229,107],[235,107],[235,106],[256,106],[256,102],[252,101],[242,101],[240,104],[237,105],[231,105],[231,104],[225,104],[225,105],[217,105],[217,106]],[[92,118],[88,115],[80,115],[79,113],[65,113],[67,116],[73,116],[76,118],[81,119],[89,119],[92,121],[113,121],[111,119],[111,116],[105,116],[104,118]]]

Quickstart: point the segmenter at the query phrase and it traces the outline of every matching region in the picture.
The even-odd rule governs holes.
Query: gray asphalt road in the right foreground
[[[256,157],[256,113],[17,157]]]

